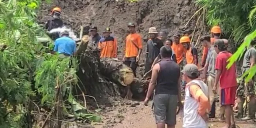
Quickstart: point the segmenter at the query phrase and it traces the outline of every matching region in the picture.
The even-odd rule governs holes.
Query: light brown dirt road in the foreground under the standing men
[[[152,103],[152,102],[151,102]],[[103,123],[95,124],[95,128],[156,128],[155,118],[149,106],[143,102],[119,103],[114,108],[105,108]],[[217,110],[218,112],[219,110]],[[237,122],[239,128],[256,128],[252,121]],[[222,128],[225,123],[211,122],[209,128]],[[181,118],[177,117],[176,128],[182,128]]]

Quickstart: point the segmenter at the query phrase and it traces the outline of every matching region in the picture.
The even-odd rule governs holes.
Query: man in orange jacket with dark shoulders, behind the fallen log
[[[101,50],[101,58],[116,58],[117,57],[117,40],[110,36],[110,28],[107,27],[103,31],[103,37],[99,40],[98,48]]]

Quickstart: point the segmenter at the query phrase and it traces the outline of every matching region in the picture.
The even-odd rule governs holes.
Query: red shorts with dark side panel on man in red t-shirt
[[[234,105],[237,86],[221,89],[221,105]]]

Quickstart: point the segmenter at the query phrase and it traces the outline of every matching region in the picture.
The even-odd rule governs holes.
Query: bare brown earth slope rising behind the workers
[[[39,21],[46,22],[50,18],[50,10],[56,6],[62,8],[61,19],[64,24],[72,27],[76,33],[81,25],[97,26],[99,34],[102,34],[104,28],[110,27],[118,40],[119,58],[123,56],[127,25],[134,22],[145,40],[140,64],[145,59],[149,27],[154,26],[158,31],[165,30],[171,37],[177,31],[192,32],[196,24],[196,19],[193,19],[184,27],[196,11],[194,0],[141,0],[133,3],[128,0],[52,0],[48,5],[42,3],[38,12]],[[143,71],[143,68],[138,70]]]

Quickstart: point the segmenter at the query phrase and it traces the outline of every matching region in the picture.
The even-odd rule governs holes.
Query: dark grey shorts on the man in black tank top
[[[176,124],[178,95],[156,94],[154,96],[154,114],[156,124]]]

